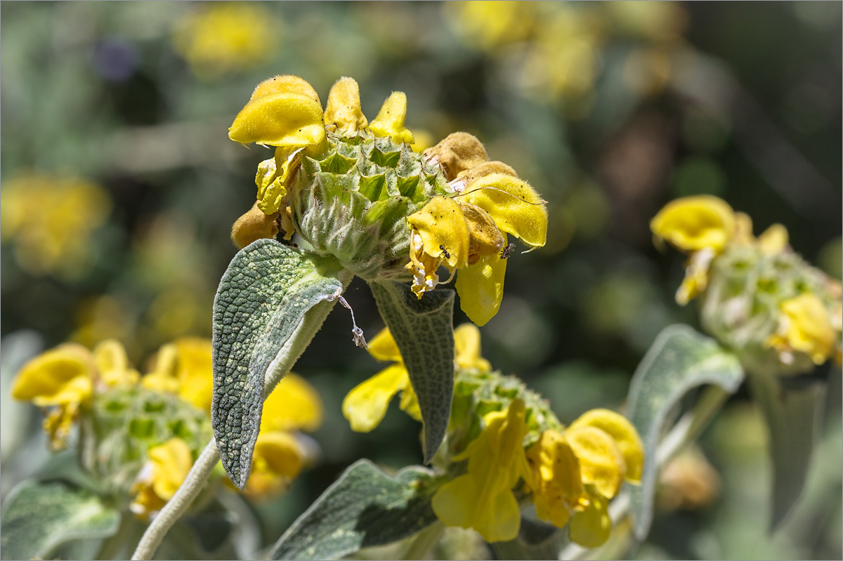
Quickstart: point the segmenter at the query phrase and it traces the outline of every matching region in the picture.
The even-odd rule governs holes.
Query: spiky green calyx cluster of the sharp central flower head
[[[314,253],[365,280],[409,278],[406,217],[449,194],[441,170],[389,137],[329,136],[327,143],[319,157],[302,155],[291,185],[296,232]]]

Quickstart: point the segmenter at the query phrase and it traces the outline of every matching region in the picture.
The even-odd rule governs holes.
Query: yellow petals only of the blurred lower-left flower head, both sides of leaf
[[[12,393],[16,399],[50,409],[44,430],[50,435],[51,447],[59,449],[67,445],[73,423],[92,415],[97,400],[109,399],[109,391],[115,388],[137,388],[141,393],[129,395],[138,396],[149,392],[173,394],[189,409],[201,411],[200,416],[209,424],[211,341],[183,338],[164,345],[153,357],[152,368],[145,376],[132,368],[126,351],[115,339],[103,341],[93,352],[82,345],[61,345],[24,365],[14,380]],[[130,421],[126,419],[125,424]],[[314,459],[314,445],[299,431],[316,430],[321,421],[319,395],[301,377],[288,374],[266,398],[252,473],[244,493],[264,498],[287,489]],[[100,440],[108,437],[98,435]],[[191,450],[177,436],[158,444],[153,442],[148,459],[132,484],[132,512],[146,518],[160,510],[182,484],[198,453],[198,449]]]

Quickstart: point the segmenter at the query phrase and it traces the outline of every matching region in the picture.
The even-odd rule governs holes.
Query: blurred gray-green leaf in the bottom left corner
[[[9,494],[0,525],[3,559],[46,559],[62,543],[113,535],[120,513],[71,484],[27,480]]]

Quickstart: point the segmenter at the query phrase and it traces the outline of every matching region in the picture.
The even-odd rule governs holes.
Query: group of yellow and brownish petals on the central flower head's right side
[[[507,234],[533,248],[545,245],[545,201],[512,168],[488,162],[474,136],[454,133],[425,155],[442,166],[457,192],[432,198],[407,218],[412,291],[421,298],[433,290],[441,265],[452,276],[459,269],[459,305],[471,321],[485,325],[501,306]]]

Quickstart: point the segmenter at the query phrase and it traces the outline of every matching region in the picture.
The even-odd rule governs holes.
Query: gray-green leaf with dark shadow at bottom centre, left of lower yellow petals
[[[359,460],[293,522],[270,558],[336,559],[421,532],[437,520],[430,478],[415,466],[390,477]]]

